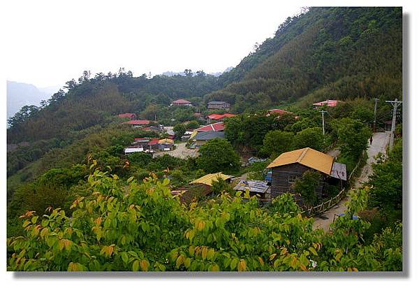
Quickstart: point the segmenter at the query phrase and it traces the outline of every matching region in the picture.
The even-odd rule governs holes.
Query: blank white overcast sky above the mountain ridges
[[[239,64],[256,42],[272,37],[302,5],[37,0],[6,6],[6,78],[45,87],[64,85],[83,70],[224,71]]]

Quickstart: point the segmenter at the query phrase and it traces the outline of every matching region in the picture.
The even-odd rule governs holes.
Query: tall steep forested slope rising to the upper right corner
[[[311,8],[220,80],[228,85],[207,99],[236,112],[302,97],[401,98],[402,8]]]

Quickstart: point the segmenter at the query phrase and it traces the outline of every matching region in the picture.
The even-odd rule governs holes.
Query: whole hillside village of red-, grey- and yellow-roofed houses
[[[321,111],[322,108],[335,108],[339,103],[341,101],[328,99],[313,103],[312,107],[314,110],[323,112]],[[173,106],[191,108],[193,104],[185,99],[178,99],[170,103],[170,107]],[[203,116],[202,113],[194,113],[197,120],[203,124],[196,129],[187,129],[182,135],[177,135],[173,131],[174,127],[164,126],[156,120],[136,120],[134,113],[120,114],[120,118],[129,119],[127,122],[123,122],[123,124],[131,125],[133,129],[140,129],[141,131],[155,131],[160,135],[160,138],[134,138],[133,143],[124,149],[124,153],[128,155],[140,152],[152,154],[152,157],[168,154],[181,159],[198,157],[199,149],[205,143],[216,138],[225,138],[224,121],[236,116],[228,113],[229,108],[230,104],[226,101],[208,102],[208,113],[206,116]],[[225,113],[214,113],[214,111],[219,110]],[[299,116],[291,112],[278,108],[268,110],[266,116],[270,115],[275,115],[276,117],[292,115],[295,120],[299,118]],[[386,128],[388,128],[388,125],[386,125]],[[284,152],[273,161],[249,157],[249,159],[242,159],[242,166],[249,166],[256,162],[265,163],[266,167],[262,171],[262,179],[248,179],[247,173],[243,175],[228,175],[221,172],[208,173],[186,185],[173,189],[171,193],[173,196],[179,197],[180,201],[189,204],[199,199],[215,196],[213,185],[216,185],[217,182],[223,182],[224,187],[228,187],[230,191],[240,192],[242,196],[256,196],[261,205],[269,205],[272,199],[281,196],[281,194],[291,192],[295,196],[296,203],[302,208],[307,208],[309,206],[305,205],[307,204],[306,201],[299,193],[295,192],[295,181],[302,178],[306,171],[317,171],[321,175],[321,180],[316,188],[318,202],[328,201],[333,196],[336,196],[336,193],[331,191],[341,191],[337,195],[339,199],[335,197],[337,199],[335,202],[337,203],[341,200],[341,195],[344,195],[342,192],[348,188],[348,173],[352,174],[353,171],[346,171],[346,164],[336,161],[336,156],[336,150],[332,150],[330,153],[323,153],[311,147],[304,147]],[[336,203],[333,203],[333,205]],[[332,203],[329,203],[329,206],[332,206]]]

